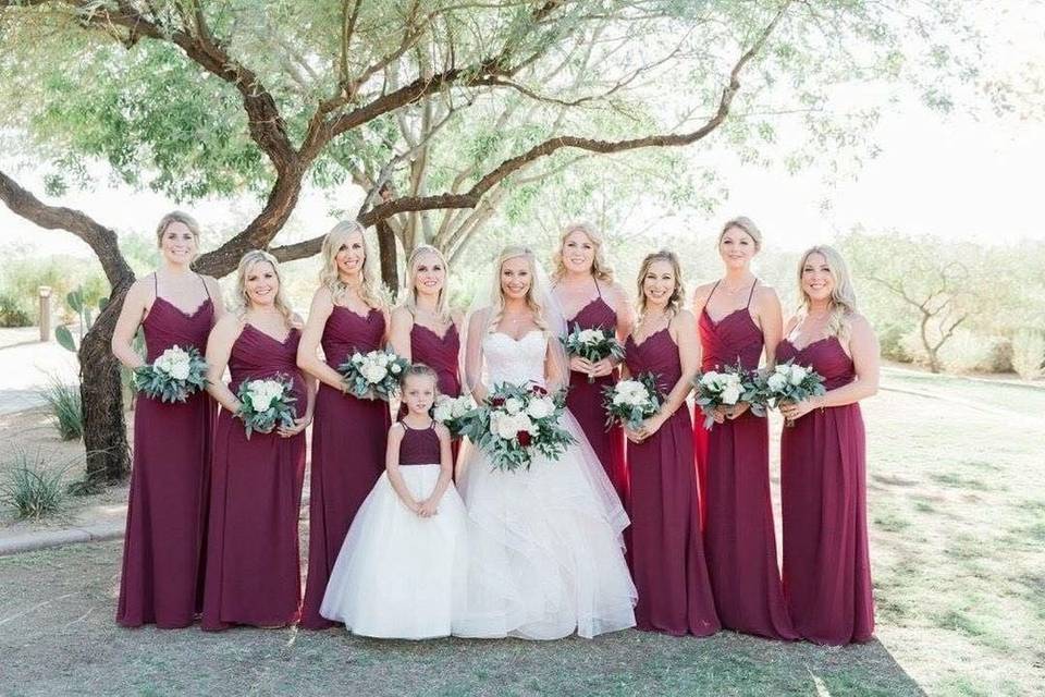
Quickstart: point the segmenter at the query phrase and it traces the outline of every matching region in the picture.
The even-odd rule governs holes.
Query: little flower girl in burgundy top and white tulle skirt
[[[450,431],[429,412],[435,372],[404,370],[408,412],[389,431],[385,472],[359,508],[320,614],[358,635],[448,636],[464,597],[466,513],[451,480]]]

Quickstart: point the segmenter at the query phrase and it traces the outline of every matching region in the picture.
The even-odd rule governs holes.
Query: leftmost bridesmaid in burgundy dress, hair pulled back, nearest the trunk
[[[199,225],[170,212],[156,228],[160,268],[135,281],[112,333],[112,353],[130,369],[175,344],[201,354],[224,313],[218,282],[196,273]],[[145,334],[145,360],[132,347]],[[214,401],[205,392],[184,403],[142,396],[134,411],[134,467],[127,501],[116,622],[185,627],[200,612],[204,536]]]

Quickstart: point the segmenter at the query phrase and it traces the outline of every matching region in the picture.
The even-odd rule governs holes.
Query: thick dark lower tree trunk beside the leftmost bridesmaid
[[[87,451],[85,484],[91,488],[121,482],[131,472],[120,362],[110,346],[128,286],[130,281],[113,289],[115,297],[106,305],[79,346],[79,394],[84,404],[84,450]]]

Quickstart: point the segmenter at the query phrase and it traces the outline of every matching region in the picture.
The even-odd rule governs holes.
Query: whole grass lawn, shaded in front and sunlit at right
[[[110,542],[0,559],[0,694],[1042,694],[1045,391],[897,371],[884,388],[864,405],[876,641],[127,631]]]

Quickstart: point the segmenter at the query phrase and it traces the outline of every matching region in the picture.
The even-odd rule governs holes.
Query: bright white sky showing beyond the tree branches
[[[1028,64],[1036,63],[1043,70],[1042,3],[1013,0],[986,5],[984,21],[988,26],[983,30],[989,32],[989,53],[985,65],[1010,75]],[[785,124],[778,139],[787,137]],[[729,188],[729,198],[711,217],[694,213],[689,218],[706,225],[705,231],[710,232],[722,220],[747,215],[759,222],[769,244],[788,249],[828,241],[857,224],[872,231],[895,229],[984,243],[1045,239],[1045,225],[1041,222],[1045,159],[1042,121],[1018,115],[998,118],[987,108],[975,117],[963,110],[943,115],[910,97],[878,122],[871,139],[882,154],[847,173],[846,179],[836,180],[833,186],[825,185],[825,172],[816,167],[790,175],[780,169],[742,166],[729,154],[709,154],[702,146],[693,146],[694,163],[706,166],[710,157],[720,180]],[[44,197],[40,179],[32,171],[12,171],[11,164],[0,158],[0,166],[9,168],[9,173],[23,185]],[[855,181],[849,181],[849,175],[855,175]],[[345,196],[355,194],[345,192]],[[822,209],[825,199],[829,201],[827,210]],[[120,231],[145,232],[163,212],[175,207],[192,210],[207,229],[228,228],[246,220],[260,207],[251,200],[176,206],[162,196],[126,187],[71,193],[49,203],[82,208]],[[303,196],[281,241],[328,230],[334,219],[327,208],[322,196]],[[89,254],[72,234],[41,231],[3,206],[0,235],[5,247],[14,242],[39,254]]]

